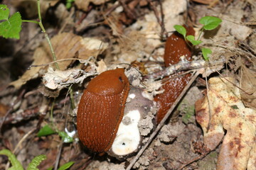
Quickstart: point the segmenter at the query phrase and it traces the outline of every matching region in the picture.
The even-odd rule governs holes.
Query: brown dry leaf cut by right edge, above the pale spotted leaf
[[[241,96],[245,106],[256,109],[256,71],[242,66],[241,87],[244,90]]]

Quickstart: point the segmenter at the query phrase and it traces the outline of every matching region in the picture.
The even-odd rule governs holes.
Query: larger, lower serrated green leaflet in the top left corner
[[[21,14],[16,12],[8,20],[0,23],[0,35],[4,38],[19,39],[21,32]]]

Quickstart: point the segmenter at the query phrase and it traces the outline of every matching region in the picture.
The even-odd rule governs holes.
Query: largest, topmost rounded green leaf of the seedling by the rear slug
[[[199,23],[203,24],[203,28],[206,30],[213,30],[218,27],[222,20],[215,16],[205,16],[199,20]]]

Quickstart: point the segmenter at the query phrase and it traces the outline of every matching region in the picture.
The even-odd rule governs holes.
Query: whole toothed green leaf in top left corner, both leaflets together
[[[6,5],[0,6],[0,20],[4,20],[0,23],[0,35],[4,38],[16,38],[19,39],[19,33],[21,32],[21,14],[16,12],[13,16],[9,17],[9,8]]]

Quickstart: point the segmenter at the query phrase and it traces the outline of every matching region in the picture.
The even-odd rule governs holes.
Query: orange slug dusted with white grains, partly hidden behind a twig
[[[195,35],[195,30],[191,27],[185,27],[187,35]],[[181,56],[185,56],[186,60],[191,61],[192,52],[190,47],[186,44],[183,36],[177,32],[173,33],[166,40],[166,47],[164,50],[164,64],[169,67],[172,64],[177,64]],[[182,72],[181,72],[182,73]],[[177,75],[176,75],[177,76]],[[159,110],[156,115],[157,123],[160,123],[164,115],[169,111],[169,108],[176,101],[176,98],[181,94],[186,84],[190,80],[191,74],[178,76],[177,78],[169,79],[162,86],[163,94],[159,94],[154,98]]]

